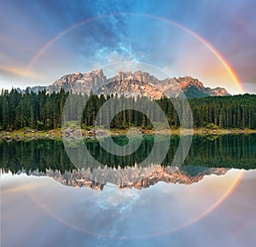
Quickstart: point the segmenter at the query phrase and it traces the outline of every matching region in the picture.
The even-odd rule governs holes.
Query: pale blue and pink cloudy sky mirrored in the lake
[[[239,170],[209,175],[189,187],[107,185],[103,192],[63,187],[48,177],[10,176],[1,181],[3,246],[205,246],[209,241],[238,247],[255,240],[253,171],[222,204],[218,201]]]

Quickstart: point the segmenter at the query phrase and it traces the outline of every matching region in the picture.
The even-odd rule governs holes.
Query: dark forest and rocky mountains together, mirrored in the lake
[[[115,136],[113,140],[119,145],[126,141],[125,136]],[[230,168],[256,168],[256,153],[253,152],[256,135],[195,136],[183,165],[174,169],[171,164],[178,142],[179,137],[172,136],[161,165],[144,163],[138,166],[151,152],[154,136],[144,135],[139,149],[127,156],[106,152],[96,139],[88,139],[84,145],[102,165],[95,167],[94,163],[84,162],[80,169],[73,166],[61,141],[1,142],[0,164],[4,172],[46,175],[68,186],[97,190],[102,190],[107,183],[137,189],[159,181],[192,184],[205,175],[224,175]]]

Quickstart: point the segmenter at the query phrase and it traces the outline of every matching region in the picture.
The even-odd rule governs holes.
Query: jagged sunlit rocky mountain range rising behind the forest
[[[230,95],[224,88],[207,88],[197,78],[190,76],[179,78],[166,78],[160,80],[148,72],[117,72],[113,78],[107,78],[102,70],[86,73],[76,72],[56,80],[49,86],[36,86],[28,88],[29,91],[38,93],[46,90],[47,93],[59,92],[61,89],[73,94],[89,95],[92,91],[96,95],[125,95],[147,96],[152,100],[162,96],[177,97],[182,92],[188,98]],[[20,92],[24,90],[18,89]]]

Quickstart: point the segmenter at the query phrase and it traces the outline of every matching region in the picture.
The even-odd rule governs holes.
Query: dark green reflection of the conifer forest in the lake
[[[122,143],[124,137],[117,136],[116,142]],[[164,166],[172,164],[177,151],[178,136],[172,136],[171,145]],[[102,149],[96,140],[84,141],[91,155],[101,164],[108,167],[133,166],[140,164],[154,144],[151,135],[145,135],[137,152],[128,156],[115,156]],[[194,136],[189,155],[184,161],[185,166],[224,167],[236,169],[256,168],[256,135],[220,135]],[[161,155],[161,153],[159,154]],[[0,164],[3,171],[17,173],[20,169],[26,172],[46,169],[66,170],[74,169],[61,141],[12,141],[0,142]],[[149,164],[148,164],[149,165]],[[103,166],[102,166],[103,167]],[[93,164],[86,164],[84,169],[95,169]]]

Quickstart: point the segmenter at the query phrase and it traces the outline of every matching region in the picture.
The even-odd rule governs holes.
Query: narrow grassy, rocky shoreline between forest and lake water
[[[154,135],[154,129],[140,129],[143,135]],[[192,129],[170,129],[170,135],[191,135]],[[104,132],[104,130],[102,130]],[[127,129],[111,129],[111,135],[126,135]],[[155,134],[166,135],[158,131]],[[167,133],[168,134],[168,133]],[[193,135],[250,135],[256,134],[256,129],[193,129]],[[95,137],[95,130],[82,129],[83,138]],[[103,136],[103,135],[102,135]],[[36,130],[36,129],[16,129],[13,131],[0,131],[0,141],[30,141],[30,140],[56,140],[62,141],[62,131],[60,129]]]

